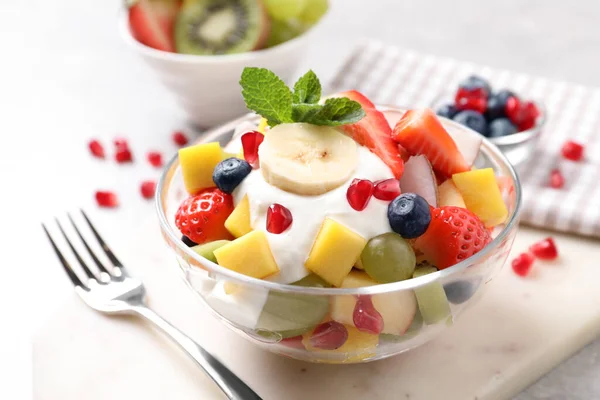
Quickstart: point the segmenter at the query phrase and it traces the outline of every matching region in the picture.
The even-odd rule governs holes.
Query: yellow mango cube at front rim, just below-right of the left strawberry
[[[279,272],[263,231],[252,231],[237,238],[216,249],[214,255],[220,266],[254,278],[262,279]]]

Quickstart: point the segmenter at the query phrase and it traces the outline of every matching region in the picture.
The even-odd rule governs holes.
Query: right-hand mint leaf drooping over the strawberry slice
[[[292,115],[295,122],[340,126],[360,121],[365,116],[365,111],[356,101],[334,97],[327,99],[325,104],[294,104]]]

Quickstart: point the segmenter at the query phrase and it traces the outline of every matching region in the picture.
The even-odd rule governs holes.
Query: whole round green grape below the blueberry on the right
[[[365,272],[379,283],[409,279],[416,265],[412,247],[394,232],[384,233],[369,240],[360,255],[360,260]]]

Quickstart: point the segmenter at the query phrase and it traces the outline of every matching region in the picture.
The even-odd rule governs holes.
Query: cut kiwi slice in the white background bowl
[[[175,23],[178,53],[215,55],[261,48],[269,17],[257,0],[186,0]]]

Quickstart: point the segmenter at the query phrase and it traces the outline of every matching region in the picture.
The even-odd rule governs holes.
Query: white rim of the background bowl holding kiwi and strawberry
[[[310,26],[306,31],[302,34],[287,40],[283,43],[280,43],[276,46],[269,47],[266,49],[247,51],[244,53],[235,53],[235,54],[219,54],[219,55],[195,55],[195,54],[181,54],[181,53],[170,53],[168,51],[162,51],[158,49],[154,49],[152,47],[146,46],[143,43],[138,42],[131,31],[129,30],[129,20],[127,18],[127,9],[125,7],[119,13],[119,21],[118,21],[118,29],[121,34],[121,37],[129,46],[134,48],[137,52],[143,54],[147,57],[152,57],[156,59],[161,59],[163,61],[172,61],[172,62],[180,62],[184,64],[219,64],[223,62],[253,62],[261,57],[269,57],[273,54],[277,54],[278,52],[283,52],[288,50],[288,48],[295,48],[302,44],[302,42],[306,41],[307,36],[309,36],[314,28],[320,26],[323,22],[323,19],[327,17],[329,12],[323,15],[319,21]]]

